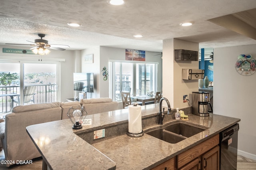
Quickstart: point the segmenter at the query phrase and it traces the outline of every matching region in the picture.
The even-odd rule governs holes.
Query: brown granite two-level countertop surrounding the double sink
[[[159,126],[157,125],[159,104],[145,105],[141,108],[144,132]],[[45,165],[53,170],[147,170],[240,121],[240,119],[216,114],[210,114],[209,117],[189,114],[188,118],[186,123],[193,123],[207,129],[176,144],[148,134],[137,138],[127,136],[125,131],[128,129],[128,109],[88,115],[86,119],[92,119],[92,125],[83,126],[79,130],[73,130],[72,123],[66,119],[31,125],[27,127],[27,132],[41,153]],[[165,115],[163,123],[174,121],[177,120],[173,115]],[[105,128],[105,138],[93,140],[93,131],[103,128]]]

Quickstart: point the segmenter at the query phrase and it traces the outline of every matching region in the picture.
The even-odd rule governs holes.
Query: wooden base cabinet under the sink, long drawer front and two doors
[[[177,156],[179,170],[219,170],[219,135],[198,144]]]

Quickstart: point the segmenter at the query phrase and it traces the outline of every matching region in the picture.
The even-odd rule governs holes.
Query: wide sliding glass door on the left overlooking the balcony
[[[33,89],[32,103],[58,101],[58,70],[56,61],[0,61],[0,113],[10,112],[16,105],[31,104],[26,102],[31,97],[25,96],[25,87],[35,87],[29,88]]]

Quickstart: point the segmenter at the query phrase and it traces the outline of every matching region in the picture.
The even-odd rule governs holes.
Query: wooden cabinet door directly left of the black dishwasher
[[[202,155],[202,170],[219,170],[220,148],[216,146],[209,152]]]

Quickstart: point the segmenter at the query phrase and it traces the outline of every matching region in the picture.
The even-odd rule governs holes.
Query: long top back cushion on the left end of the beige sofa
[[[54,107],[60,107],[60,102],[15,106],[12,109],[12,113],[35,111],[35,110],[41,110],[41,109],[50,109]]]

